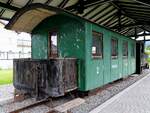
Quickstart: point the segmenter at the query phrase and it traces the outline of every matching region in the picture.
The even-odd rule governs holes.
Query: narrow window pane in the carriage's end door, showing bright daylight
[[[50,32],[50,57],[58,56],[58,48],[57,48],[57,32]]]

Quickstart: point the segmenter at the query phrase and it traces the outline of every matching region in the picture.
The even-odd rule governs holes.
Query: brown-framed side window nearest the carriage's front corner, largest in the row
[[[93,58],[102,58],[102,46],[103,39],[102,34],[93,31],[92,32],[92,57]]]

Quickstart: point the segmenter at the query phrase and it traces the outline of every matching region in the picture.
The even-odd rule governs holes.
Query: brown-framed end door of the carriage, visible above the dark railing
[[[51,31],[49,34],[48,57],[58,57],[58,33],[56,31]]]

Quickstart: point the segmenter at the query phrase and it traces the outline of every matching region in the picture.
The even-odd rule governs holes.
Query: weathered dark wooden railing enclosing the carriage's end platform
[[[16,89],[37,97],[59,97],[77,88],[75,58],[14,59],[13,84]]]

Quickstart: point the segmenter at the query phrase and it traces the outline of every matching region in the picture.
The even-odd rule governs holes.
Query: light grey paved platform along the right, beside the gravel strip
[[[90,113],[150,113],[150,74]]]

